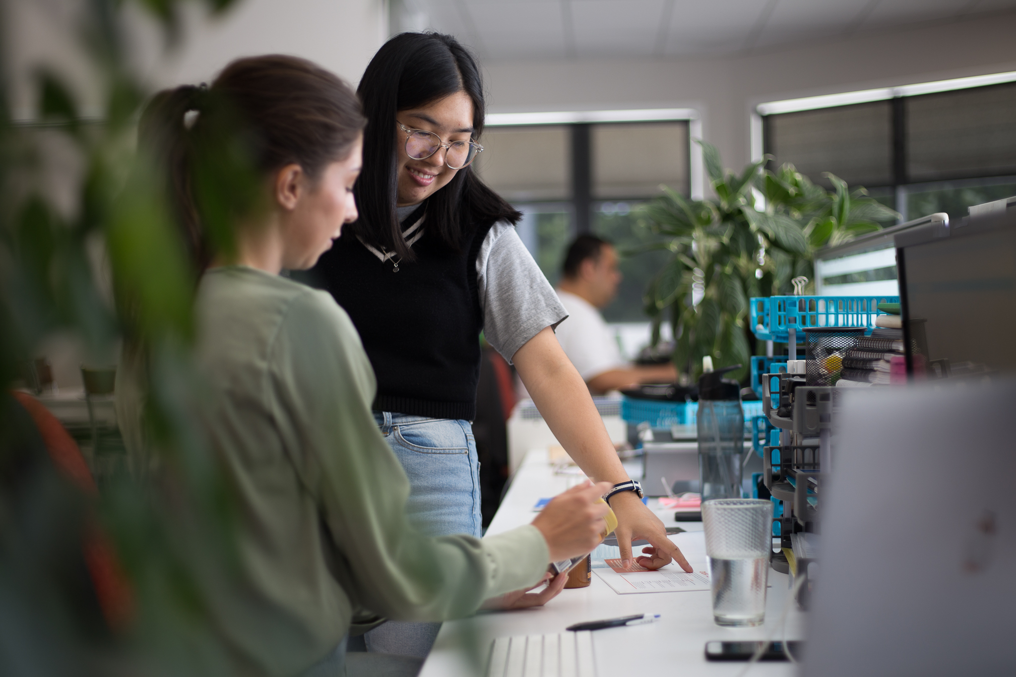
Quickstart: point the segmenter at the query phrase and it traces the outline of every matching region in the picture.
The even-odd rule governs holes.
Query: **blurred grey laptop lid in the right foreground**
[[[1016,670],[1016,381],[846,391],[805,677]]]

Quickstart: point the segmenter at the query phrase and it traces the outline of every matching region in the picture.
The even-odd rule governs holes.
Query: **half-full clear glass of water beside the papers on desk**
[[[732,627],[761,625],[772,549],[772,502],[707,500],[702,503],[702,522],[713,620]]]

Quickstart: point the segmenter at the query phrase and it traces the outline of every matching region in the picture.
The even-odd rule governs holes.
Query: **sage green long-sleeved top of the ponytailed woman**
[[[345,312],[323,291],[246,267],[197,295],[202,418],[239,499],[239,566],[216,632],[247,674],[322,659],[354,613],[444,620],[537,583],[532,526],[478,540],[408,525],[409,483],[374,421],[376,383]]]

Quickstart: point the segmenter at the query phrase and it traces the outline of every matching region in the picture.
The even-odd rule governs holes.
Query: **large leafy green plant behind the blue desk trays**
[[[864,189],[849,192],[832,175],[834,192],[789,164],[766,171],[766,158],[737,175],[723,168],[714,146],[699,143],[716,197],[689,200],[664,189],[642,212],[645,227],[660,239],[647,249],[673,255],[643,299],[653,342],[660,324],[670,321],[674,362],[691,379],[705,355],[716,367],[740,363],[747,369],[757,351],[748,299],[790,293],[791,278],[812,276],[818,248],[876,230],[878,220],[897,216]],[[734,376],[744,377],[745,369]]]

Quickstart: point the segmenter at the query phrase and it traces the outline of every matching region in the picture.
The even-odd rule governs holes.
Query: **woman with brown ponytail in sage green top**
[[[341,80],[283,56],[163,92],[141,122],[197,280],[197,416],[232,489],[237,556],[204,553],[195,571],[237,674],[344,675],[354,618],[442,620],[498,596],[542,604],[563,574],[520,589],[593,547],[607,513],[595,503],[606,485],[589,485],[484,541],[409,526],[409,484],[374,421],[353,323],[327,293],[279,275],[313,266],[356,219],[364,123]],[[348,674],[418,669],[363,654]]]

